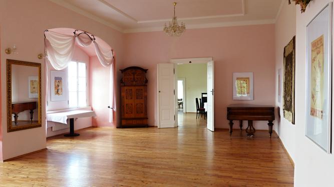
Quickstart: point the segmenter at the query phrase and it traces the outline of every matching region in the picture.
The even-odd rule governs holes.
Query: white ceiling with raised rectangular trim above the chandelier
[[[274,23],[283,0],[51,0],[122,32],[162,30],[173,16],[187,28]]]

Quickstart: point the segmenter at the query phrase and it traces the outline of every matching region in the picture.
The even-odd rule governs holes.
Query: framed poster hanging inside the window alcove
[[[67,79],[65,71],[51,71],[51,101],[68,99]]]

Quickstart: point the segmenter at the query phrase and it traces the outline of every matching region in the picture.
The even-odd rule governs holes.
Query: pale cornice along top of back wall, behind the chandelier
[[[225,26],[245,26],[245,25],[255,25],[255,24],[274,24],[274,23],[275,19],[263,19],[263,20],[249,20],[249,21],[218,22],[218,23],[208,23],[208,24],[188,24],[187,29],[225,27]],[[148,27],[148,28],[125,29],[123,32],[134,33],[134,32],[152,32],[152,31],[162,31],[162,30],[163,26],[159,26],[159,27]]]

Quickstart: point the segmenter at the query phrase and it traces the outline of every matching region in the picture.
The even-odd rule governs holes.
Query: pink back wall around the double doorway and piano
[[[124,66],[148,69],[150,125],[157,125],[157,63],[169,62],[171,58],[213,57],[215,127],[228,127],[228,104],[275,104],[273,24],[188,29],[180,37],[166,36],[162,31],[128,33],[125,51]],[[254,100],[232,100],[232,72],[249,71],[254,72]],[[257,129],[268,128],[265,121],[256,121],[254,125]]]

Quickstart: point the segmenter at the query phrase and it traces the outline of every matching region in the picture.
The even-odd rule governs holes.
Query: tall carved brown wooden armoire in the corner
[[[120,127],[148,126],[147,70],[136,66],[121,69]]]

